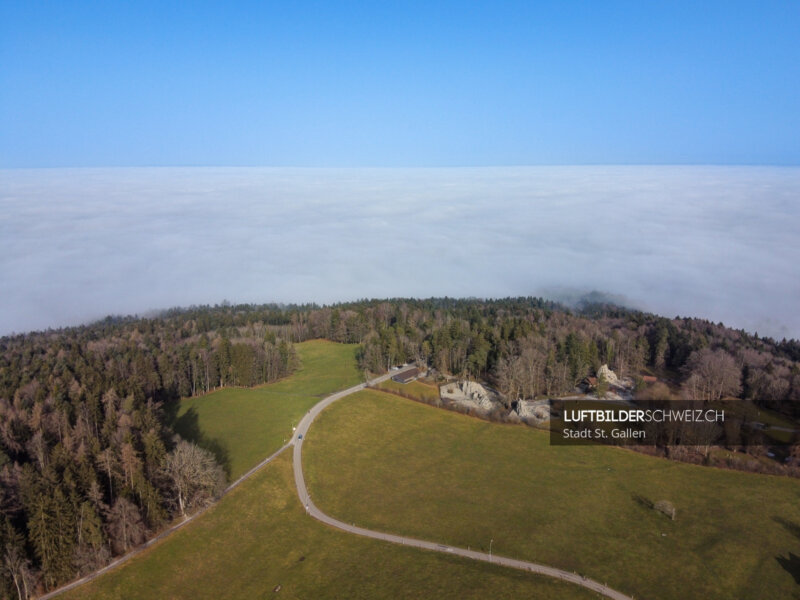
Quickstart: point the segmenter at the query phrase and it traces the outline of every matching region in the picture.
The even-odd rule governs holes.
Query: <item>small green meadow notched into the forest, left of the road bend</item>
[[[272,454],[290,437],[292,423],[320,398],[362,381],[356,344],[312,340],[296,344],[301,367],[290,377],[259,387],[226,388],[185,398],[174,429],[212,450],[230,480]]]

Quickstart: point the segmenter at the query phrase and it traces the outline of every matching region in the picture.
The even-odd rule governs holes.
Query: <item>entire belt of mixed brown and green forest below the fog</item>
[[[608,304],[539,298],[222,305],[0,339],[0,592],[90,572],[215,498],[224,473],[180,440],[185,396],[274,381],[292,344],[360,344],[372,373],[417,361],[511,398],[558,396],[608,364],[676,393],[800,406],[800,343]],[[188,476],[187,473],[200,475]]]

